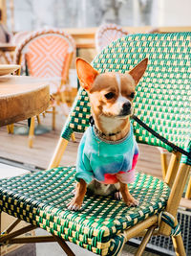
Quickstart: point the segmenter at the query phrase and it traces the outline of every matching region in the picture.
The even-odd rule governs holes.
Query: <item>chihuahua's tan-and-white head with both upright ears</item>
[[[132,114],[136,86],[146,70],[147,62],[148,58],[144,58],[126,74],[99,74],[84,59],[76,59],[80,85],[88,92],[96,117],[101,115],[121,119]]]

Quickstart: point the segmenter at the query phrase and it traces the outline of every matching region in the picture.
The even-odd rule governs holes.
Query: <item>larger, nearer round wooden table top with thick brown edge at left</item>
[[[32,77],[0,77],[0,127],[42,113],[50,104],[49,85]]]

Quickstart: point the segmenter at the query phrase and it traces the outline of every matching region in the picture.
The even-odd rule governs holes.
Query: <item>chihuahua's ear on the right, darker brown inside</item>
[[[142,61],[138,63],[132,70],[129,71],[129,74],[133,77],[134,81],[136,81],[136,85],[138,81],[143,76],[148,63],[148,58],[144,58]]]

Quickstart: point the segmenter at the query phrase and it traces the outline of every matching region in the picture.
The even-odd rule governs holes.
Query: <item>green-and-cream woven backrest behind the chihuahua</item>
[[[126,73],[143,58],[147,70],[138,83],[135,114],[145,124],[182,149],[191,150],[191,33],[140,34],[122,37],[105,48],[93,61],[98,72]],[[80,89],[63,129],[68,139],[83,132],[91,115],[87,93]],[[172,149],[133,122],[139,143]],[[191,165],[191,159],[183,157]]]

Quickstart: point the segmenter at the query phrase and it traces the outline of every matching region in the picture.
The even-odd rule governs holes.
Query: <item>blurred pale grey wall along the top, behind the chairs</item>
[[[105,22],[137,27],[190,26],[190,10],[191,0],[16,0],[13,30],[86,28]]]

